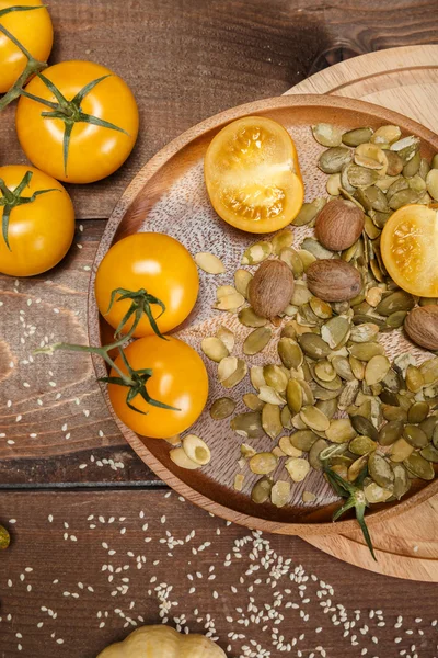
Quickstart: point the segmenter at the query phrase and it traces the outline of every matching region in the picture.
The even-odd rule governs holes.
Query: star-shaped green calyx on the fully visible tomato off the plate
[[[62,92],[56,87],[56,84],[54,84],[51,82],[51,80],[46,78],[46,76],[43,76],[43,73],[38,73],[38,78],[44,82],[44,84],[47,87],[47,89],[49,89],[51,91],[51,93],[56,98],[57,102],[47,101],[46,99],[42,99],[37,95],[34,95],[33,93],[28,93],[28,91],[25,91],[24,89],[22,89],[20,91],[21,95],[24,95],[27,99],[31,99],[32,101],[36,101],[37,103],[42,103],[43,105],[46,105],[46,107],[50,107],[50,112],[42,112],[42,116],[44,116],[44,118],[60,118],[61,121],[64,121],[65,128],[64,128],[62,154],[64,154],[64,172],[65,172],[66,177],[67,177],[67,163],[68,163],[70,137],[71,137],[71,133],[74,127],[74,124],[88,123],[88,124],[92,124],[94,126],[101,126],[102,128],[108,128],[111,131],[117,131],[118,133],[124,133],[125,135],[128,135],[128,133],[126,131],[124,131],[123,128],[120,128],[119,126],[116,126],[115,124],[110,123],[108,121],[104,121],[103,118],[100,118],[99,116],[94,116],[93,114],[87,114],[81,109],[81,103],[82,103],[83,99],[94,89],[94,87],[96,87],[100,82],[102,82],[102,80],[106,80],[106,78],[110,78],[110,77],[111,77],[111,73],[108,73],[107,76],[102,76],[101,78],[96,78],[95,80],[92,80],[91,82],[85,84],[85,87],[83,87],[80,91],[78,91],[78,93],[76,94],[76,97],[73,99],[71,99],[71,101],[67,100],[66,97],[62,94]]]

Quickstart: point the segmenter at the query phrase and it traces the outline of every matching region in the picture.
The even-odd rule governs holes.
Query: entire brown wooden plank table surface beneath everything
[[[78,229],[64,262],[31,280],[0,275],[0,521],[13,537],[0,555],[0,656],[92,658],[161,615],[208,631],[232,658],[436,657],[436,586],[360,571],[180,501],[126,446],[88,356],[32,356],[43,341],[87,341],[105,219],[160,147],[339,59],[437,43],[436,1],[47,4],[51,60],[113,68],[136,94],[142,128],[119,172],[70,186]],[[25,161],[13,115],[0,121],[1,164]]]

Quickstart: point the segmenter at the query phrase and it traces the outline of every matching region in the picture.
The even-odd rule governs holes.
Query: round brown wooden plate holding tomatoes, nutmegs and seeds
[[[216,215],[206,193],[203,162],[215,134],[230,121],[250,114],[274,118],[290,132],[300,157],[307,198],[326,194],[326,177],[315,166],[319,152],[323,149],[311,136],[312,124],[335,123],[343,129],[348,129],[367,125],[376,128],[392,123],[400,125],[405,135],[413,134],[422,138],[423,156],[430,158],[438,149],[438,138],[434,133],[401,114],[360,101],[315,95],[274,98],[234,107],[198,124],[164,147],[134,179],[110,218],[94,261],[91,286],[94,283],[94,272],[110,247],[138,231],[166,232],[183,242],[193,254],[198,251],[216,253],[224,262],[227,273],[212,277],[200,272],[198,302],[189,318],[175,332],[175,336],[198,351],[200,340],[205,336],[211,336],[221,322],[238,336],[247,333],[229,314],[211,310],[211,305],[216,286],[232,283],[243,250],[257,238],[231,228]],[[311,232],[312,229],[306,227],[296,228],[296,241],[299,242]],[[97,344],[104,327],[92,290],[91,287],[89,295],[90,339],[92,344]],[[413,348],[400,336],[392,333],[385,338],[389,354],[394,355],[408,349],[419,361],[427,356],[427,352]],[[240,342],[237,341],[238,344]],[[270,352],[268,345],[263,355],[246,358],[249,365],[266,363],[268,359],[277,361],[275,342],[272,341]],[[234,353],[239,355],[238,350]],[[223,395],[223,389],[217,383],[217,365],[208,360],[205,362],[210,379],[209,400],[191,431],[208,442],[212,453],[210,464],[201,470],[183,470],[170,461],[170,446],[166,442],[139,436],[116,418],[126,440],[140,458],[192,502],[235,523],[284,534],[321,534],[356,527],[353,520],[337,522],[336,526],[331,522],[336,498],[316,472],[312,472],[304,483],[293,486],[290,504],[283,509],[270,503],[260,506],[251,501],[249,492],[257,476],[250,473],[245,476],[243,492],[234,491],[233,479],[238,472],[241,439],[230,429],[229,419],[220,422],[210,419],[208,408],[216,398]],[[104,365],[99,360],[95,360],[95,367],[99,376],[104,375]],[[107,399],[106,390],[103,390]],[[245,378],[232,389],[232,396],[241,400],[243,393],[247,390],[251,390],[251,385]],[[243,410],[244,406],[239,401],[237,411]],[[251,443],[257,451],[272,447],[267,436]],[[369,513],[369,521],[381,521],[388,514],[401,512],[438,491],[438,480],[425,485],[416,483],[416,487],[401,502],[382,508],[374,506]],[[303,503],[303,490],[315,492],[316,501]]]

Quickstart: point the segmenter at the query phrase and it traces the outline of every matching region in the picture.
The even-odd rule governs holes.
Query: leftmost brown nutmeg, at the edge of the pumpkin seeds
[[[264,261],[247,288],[247,299],[254,313],[272,319],[283,313],[293,294],[293,274],[279,260]]]

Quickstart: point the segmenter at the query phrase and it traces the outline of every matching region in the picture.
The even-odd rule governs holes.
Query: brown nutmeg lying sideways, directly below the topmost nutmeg
[[[308,288],[324,302],[348,302],[360,293],[359,272],[341,259],[316,260],[307,270]]]

